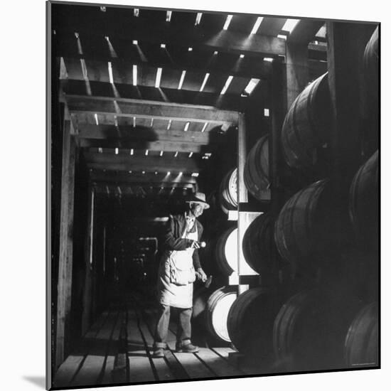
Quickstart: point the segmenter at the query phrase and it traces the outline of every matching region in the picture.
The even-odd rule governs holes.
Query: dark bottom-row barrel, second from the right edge
[[[306,289],[282,305],[273,327],[280,370],[343,368],[343,343],[357,301],[327,289]]]

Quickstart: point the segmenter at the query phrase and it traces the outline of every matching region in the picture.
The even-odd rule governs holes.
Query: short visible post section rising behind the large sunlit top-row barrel
[[[286,43],[286,105],[289,108],[309,82],[308,47]]]

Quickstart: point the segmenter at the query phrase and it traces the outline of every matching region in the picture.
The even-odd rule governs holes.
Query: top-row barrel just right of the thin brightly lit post
[[[247,156],[245,186],[257,200],[269,199],[269,138],[262,136]]]

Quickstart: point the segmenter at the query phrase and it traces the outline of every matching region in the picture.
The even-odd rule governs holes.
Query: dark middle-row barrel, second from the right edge
[[[293,195],[285,203],[274,230],[279,254],[295,266],[317,267],[321,256],[344,241],[348,230],[346,205],[332,181],[323,179]],[[346,209],[346,210],[345,210]]]

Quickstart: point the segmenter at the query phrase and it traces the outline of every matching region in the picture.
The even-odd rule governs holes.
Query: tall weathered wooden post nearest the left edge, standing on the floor
[[[75,140],[70,135],[70,122],[63,127],[63,169],[61,176],[60,256],[58,259],[58,299],[55,368],[63,363],[67,352],[70,326],[70,304],[73,269],[73,208],[75,192]]]

